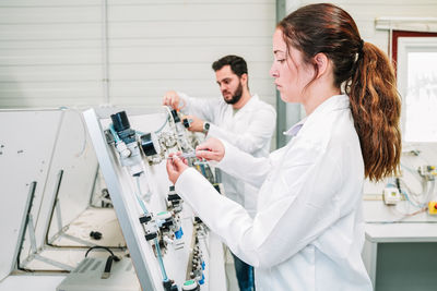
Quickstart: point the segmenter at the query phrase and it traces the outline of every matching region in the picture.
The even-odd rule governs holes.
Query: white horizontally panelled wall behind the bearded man
[[[0,108],[158,106],[167,89],[213,97],[211,63],[243,56],[252,93],[274,105],[269,76],[274,0],[0,1]]]

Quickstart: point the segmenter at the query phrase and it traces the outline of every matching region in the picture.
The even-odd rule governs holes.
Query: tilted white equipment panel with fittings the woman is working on
[[[141,161],[137,160],[131,167],[128,165],[129,158],[123,160],[125,154],[119,147],[121,140],[117,142],[118,133],[120,136],[123,133],[120,131],[115,134],[116,122],[109,118],[120,111],[90,109],[84,112],[84,118],[142,290],[181,290],[190,279],[200,286],[200,290],[226,290],[223,248],[217,244],[216,237],[211,235],[208,228],[194,218],[187,204],[180,202],[181,207],[179,205],[175,210],[169,203],[170,182],[165,170],[166,157],[169,151],[184,149],[181,143],[189,140],[188,135],[181,132],[180,126],[177,128],[180,124],[177,124],[175,116],[169,111],[155,110],[147,114],[141,110],[126,110],[129,126],[137,133],[137,140],[149,133],[165,135],[167,138],[164,145],[167,148],[161,151],[161,157],[158,154],[153,157],[144,154],[146,149],[143,140],[140,140],[138,145],[142,149]],[[168,141],[178,142],[177,145],[169,145]],[[137,142],[128,144],[131,145],[137,145]],[[153,145],[156,145],[155,140]],[[152,220],[140,222],[140,217],[146,214]],[[165,222],[169,220],[163,218],[166,215],[173,221],[170,227]],[[174,225],[177,225],[177,231],[168,231]],[[156,238],[146,239],[145,234],[153,228],[157,230]],[[210,280],[211,274],[221,280]],[[211,281],[214,283],[211,284]]]

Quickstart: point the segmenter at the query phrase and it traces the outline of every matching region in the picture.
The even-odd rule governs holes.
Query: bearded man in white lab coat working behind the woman
[[[167,92],[163,104],[179,109],[192,120],[188,130],[203,132],[206,137],[224,138],[239,149],[267,157],[273,135],[276,113],[272,106],[251,95],[246,61],[226,56],[212,64],[223,98],[200,99],[174,90]],[[256,213],[258,189],[220,172],[225,195]],[[255,290],[253,268],[234,255],[235,270],[241,291]]]

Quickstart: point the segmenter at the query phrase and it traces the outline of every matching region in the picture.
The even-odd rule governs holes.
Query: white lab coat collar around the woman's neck
[[[350,101],[347,95],[334,95],[327,100],[324,100],[321,105],[319,105],[311,114],[304,118],[296,124],[294,124],[290,130],[285,131],[283,134],[288,136],[296,136],[300,129],[304,126],[304,123],[308,119],[317,119],[318,116],[322,114],[324,111],[334,111],[346,109],[350,107]]]

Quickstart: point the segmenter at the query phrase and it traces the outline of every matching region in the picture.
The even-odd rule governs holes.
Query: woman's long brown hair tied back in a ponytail
[[[366,178],[377,181],[397,173],[401,100],[386,53],[364,43],[351,15],[333,4],[303,7],[282,20],[277,28],[288,51],[290,47],[299,50],[304,61],[314,65],[315,78],[318,68],[314,57],[322,52],[332,61],[334,85],[344,86],[350,97]]]

